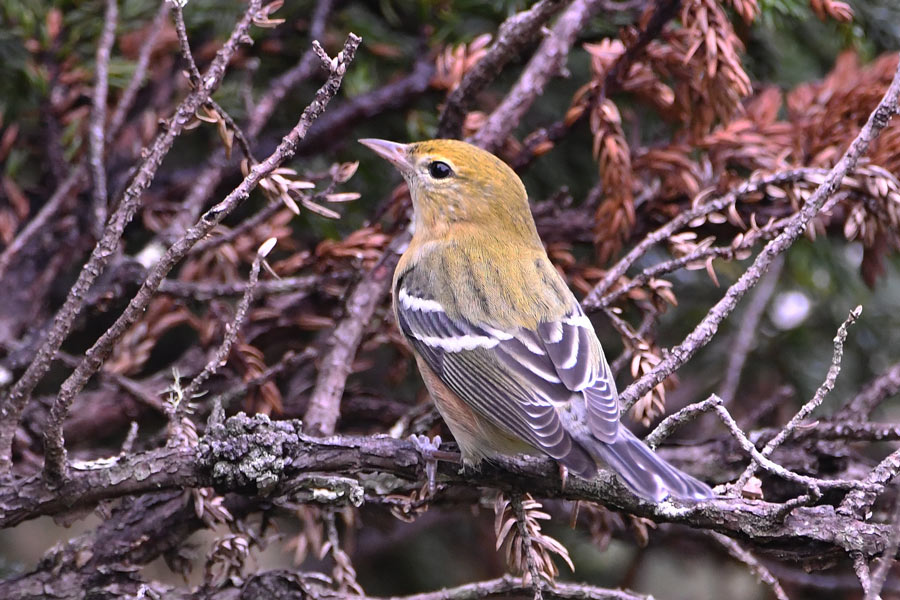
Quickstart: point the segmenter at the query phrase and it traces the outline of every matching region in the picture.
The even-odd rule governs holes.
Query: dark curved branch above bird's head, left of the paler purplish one
[[[447,96],[438,124],[438,138],[457,138],[463,120],[474,98],[500,74],[503,67],[540,33],[550,17],[556,14],[567,0],[541,0],[534,6],[506,19],[497,30],[494,43],[484,56],[469,69],[459,85]]]

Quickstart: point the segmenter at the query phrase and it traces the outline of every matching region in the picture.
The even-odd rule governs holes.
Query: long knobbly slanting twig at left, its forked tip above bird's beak
[[[259,10],[254,3],[242,22],[248,23]],[[191,227],[184,236],[175,242],[159,259],[156,265],[147,274],[141,289],[119,316],[119,318],[107,329],[103,335],[85,353],[84,361],[60,386],[59,395],[50,409],[50,418],[44,433],[44,474],[49,481],[58,481],[66,473],[66,451],[62,437],[62,425],[75,395],[81,391],[90,377],[100,368],[103,361],[112,352],[113,345],[128,330],[128,328],[143,314],[144,309],[153,298],[159,284],[169,271],[188,253],[198,240],[206,236],[228,214],[240,205],[250,192],[279,167],[284,161],[294,154],[300,139],[309,131],[312,123],[325,110],[330,100],[337,94],[347,71],[347,65],[353,60],[356,49],[362,40],[355,34],[350,34],[344,44],[344,49],[338,55],[338,59],[331,65],[331,75],[325,84],[316,92],[315,99],[306,107],[300,120],[288,133],[275,151],[264,161],[250,169],[244,180],[224,200],[210,208],[196,225]],[[204,84],[209,75],[204,78]]]

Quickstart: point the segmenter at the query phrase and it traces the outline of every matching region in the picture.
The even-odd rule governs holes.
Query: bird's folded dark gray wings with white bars
[[[513,331],[451,317],[421,285],[408,289],[403,279],[395,294],[401,330],[446,386],[480,415],[574,472],[595,470],[563,426],[558,407],[583,393],[591,433],[608,441],[618,428],[618,398],[593,328],[577,304],[559,321]]]

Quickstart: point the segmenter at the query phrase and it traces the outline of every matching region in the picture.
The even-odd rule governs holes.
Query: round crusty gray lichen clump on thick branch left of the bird
[[[210,424],[199,443],[200,462],[216,485],[255,487],[258,493],[268,494],[290,466],[291,449],[300,441],[298,428],[292,421],[239,413],[225,423]]]

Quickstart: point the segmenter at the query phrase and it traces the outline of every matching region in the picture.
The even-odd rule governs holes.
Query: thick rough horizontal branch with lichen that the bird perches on
[[[425,460],[414,444],[388,437],[315,438],[300,424],[271,422],[262,415],[232,417],[212,424],[198,449],[166,448],[83,464],[59,488],[39,476],[0,489],[0,527],[41,515],[90,508],[128,494],[215,485],[220,492],[262,495],[275,504],[389,504],[398,494],[421,487]],[[800,506],[785,517],[783,505],[740,498],[716,498],[695,505],[653,504],[628,492],[609,472],[592,481],[569,476],[563,488],[549,459],[513,457],[460,474],[455,464],[439,465],[433,503],[452,493],[479,488],[537,497],[598,502],[656,522],[719,531],[777,556],[821,560],[844,552],[873,557],[884,551],[890,527],[843,515],[832,506]],[[394,500],[392,500],[394,499]]]

